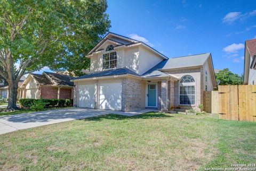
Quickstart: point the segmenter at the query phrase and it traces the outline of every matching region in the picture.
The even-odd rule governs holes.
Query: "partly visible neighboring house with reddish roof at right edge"
[[[245,41],[244,84],[256,84],[256,39]]]

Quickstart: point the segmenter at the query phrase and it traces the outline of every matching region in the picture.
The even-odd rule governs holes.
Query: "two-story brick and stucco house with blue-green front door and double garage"
[[[198,107],[203,91],[216,87],[210,53],[167,58],[143,42],[108,33],[86,57],[91,73],[71,80],[78,107]]]

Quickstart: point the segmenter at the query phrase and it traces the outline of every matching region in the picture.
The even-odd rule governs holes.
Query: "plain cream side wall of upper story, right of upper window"
[[[163,59],[151,52],[149,52],[148,50],[146,50],[145,48],[140,47],[139,48],[139,69],[137,71],[137,73],[139,75],[147,72],[149,69],[151,69],[152,67],[154,67],[156,64],[158,64],[159,62],[163,61]]]

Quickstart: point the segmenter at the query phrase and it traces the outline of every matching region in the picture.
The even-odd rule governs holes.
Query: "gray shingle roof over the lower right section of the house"
[[[210,53],[198,54],[198,55],[190,55],[190,56],[181,56],[166,59],[152,69],[148,70],[146,73],[142,75],[148,75],[155,70],[168,70],[168,69],[179,69],[183,67],[193,67],[193,66],[201,66],[205,63],[206,59],[209,57]]]

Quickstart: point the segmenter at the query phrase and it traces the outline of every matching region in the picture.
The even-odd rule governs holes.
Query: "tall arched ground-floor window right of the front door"
[[[190,75],[180,79],[180,105],[195,105],[195,80]]]

